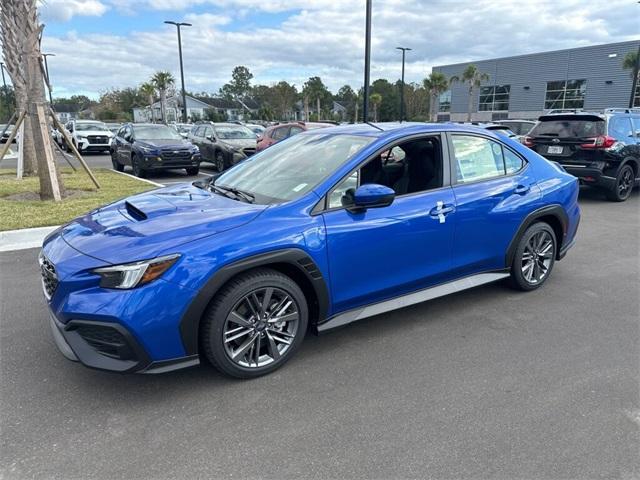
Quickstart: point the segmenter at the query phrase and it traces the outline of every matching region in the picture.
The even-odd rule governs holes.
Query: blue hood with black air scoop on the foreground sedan
[[[126,263],[179,251],[186,242],[246,224],[265,208],[179,184],[89,212],[62,227],[61,234],[86,255]]]

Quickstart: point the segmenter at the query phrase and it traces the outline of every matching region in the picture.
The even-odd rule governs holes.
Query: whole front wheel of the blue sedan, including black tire
[[[291,278],[268,268],[252,270],[231,280],[214,297],[202,318],[202,350],[225,375],[266,375],[298,350],[308,317],[305,296]],[[274,322],[274,318],[288,320]]]

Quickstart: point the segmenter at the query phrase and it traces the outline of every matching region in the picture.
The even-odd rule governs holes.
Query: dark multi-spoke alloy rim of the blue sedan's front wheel
[[[244,368],[260,368],[279,361],[298,333],[300,312],[282,289],[260,288],[243,296],[231,309],[223,327],[229,359]]]

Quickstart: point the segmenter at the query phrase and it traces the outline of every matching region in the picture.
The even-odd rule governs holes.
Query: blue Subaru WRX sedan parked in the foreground
[[[577,199],[562,167],[484,129],[312,130],[52,233],[40,254],[50,324],[88,367],[206,358],[255,377],[309,329],[500,279],[539,288],[575,241]]]

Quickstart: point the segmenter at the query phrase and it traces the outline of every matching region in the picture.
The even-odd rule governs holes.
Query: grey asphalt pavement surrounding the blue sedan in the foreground
[[[581,204],[542,289],[310,336],[253,381],[67,361],[37,250],[2,253],[0,478],[639,478],[640,195]]]

